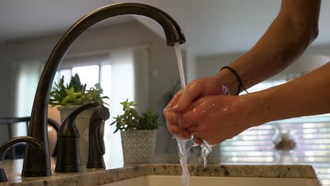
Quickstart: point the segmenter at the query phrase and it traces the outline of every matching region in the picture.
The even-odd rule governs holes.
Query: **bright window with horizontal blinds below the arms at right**
[[[286,80],[262,82],[248,91],[280,85]],[[274,148],[278,132],[290,132],[297,147]],[[311,164],[324,185],[330,185],[330,115],[278,120],[250,128],[221,144],[221,162],[235,164]]]

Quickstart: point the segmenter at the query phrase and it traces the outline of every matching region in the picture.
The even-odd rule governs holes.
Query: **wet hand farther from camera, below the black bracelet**
[[[185,91],[181,89],[181,91],[171,99],[164,110],[169,132],[173,135],[190,138],[190,132],[183,130],[183,128],[180,127],[180,123],[178,123],[181,116],[180,113],[183,113],[193,101],[202,96],[227,94],[228,89],[223,83],[221,77],[215,75],[194,80],[186,86]]]

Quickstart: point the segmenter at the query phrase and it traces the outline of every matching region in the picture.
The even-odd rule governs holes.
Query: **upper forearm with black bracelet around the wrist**
[[[283,0],[281,11],[267,32],[245,55],[230,64],[246,88],[281,72],[317,37],[320,1]],[[231,94],[238,82],[228,70],[218,74]]]

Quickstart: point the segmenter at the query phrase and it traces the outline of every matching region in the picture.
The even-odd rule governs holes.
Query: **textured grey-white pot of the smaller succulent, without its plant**
[[[124,163],[149,163],[154,156],[157,130],[121,131]]]

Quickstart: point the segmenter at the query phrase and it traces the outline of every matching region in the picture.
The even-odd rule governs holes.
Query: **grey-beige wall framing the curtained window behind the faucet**
[[[10,75],[8,75],[8,72],[11,71],[11,64],[29,60],[44,61],[47,56],[49,56],[51,49],[53,49],[60,37],[61,36],[59,35],[54,37],[30,39],[11,42],[1,46],[4,48],[4,54],[6,55],[6,60],[1,61],[2,66],[4,66],[4,68],[1,67],[0,69],[1,87],[8,85],[6,78],[8,79]],[[68,51],[67,56],[139,45],[150,46],[151,63],[149,68],[149,103],[151,109],[162,115],[164,109],[164,94],[171,90],[176,81],[179,80],[176,56],[173,47],[167,46],[163,39],[155,35],[147,27],[134,22],[87,30],[87,32],[81,35],[75,44],[73,44],[72,48]],[[185,55],[183,55],[183,57],[184,56]],[[10,104],[9,100],[14,99],[14,94],[9,95],[8,92],[1,91],[0,95],[0,115],[13,116],[13,111],[8,112],[6,110]],[[164,118],[162,116],[161,123],[164,124]],[[4,136],[6,130],[1,130],[0,132],[0,136]],[[159,130],[158,141],[169,141],[169,136],[164,135],[167,133],[165,125],[163,125],[161,130]],[[164,145],[157,145],[157,150],[163,151],[165,148]]]

